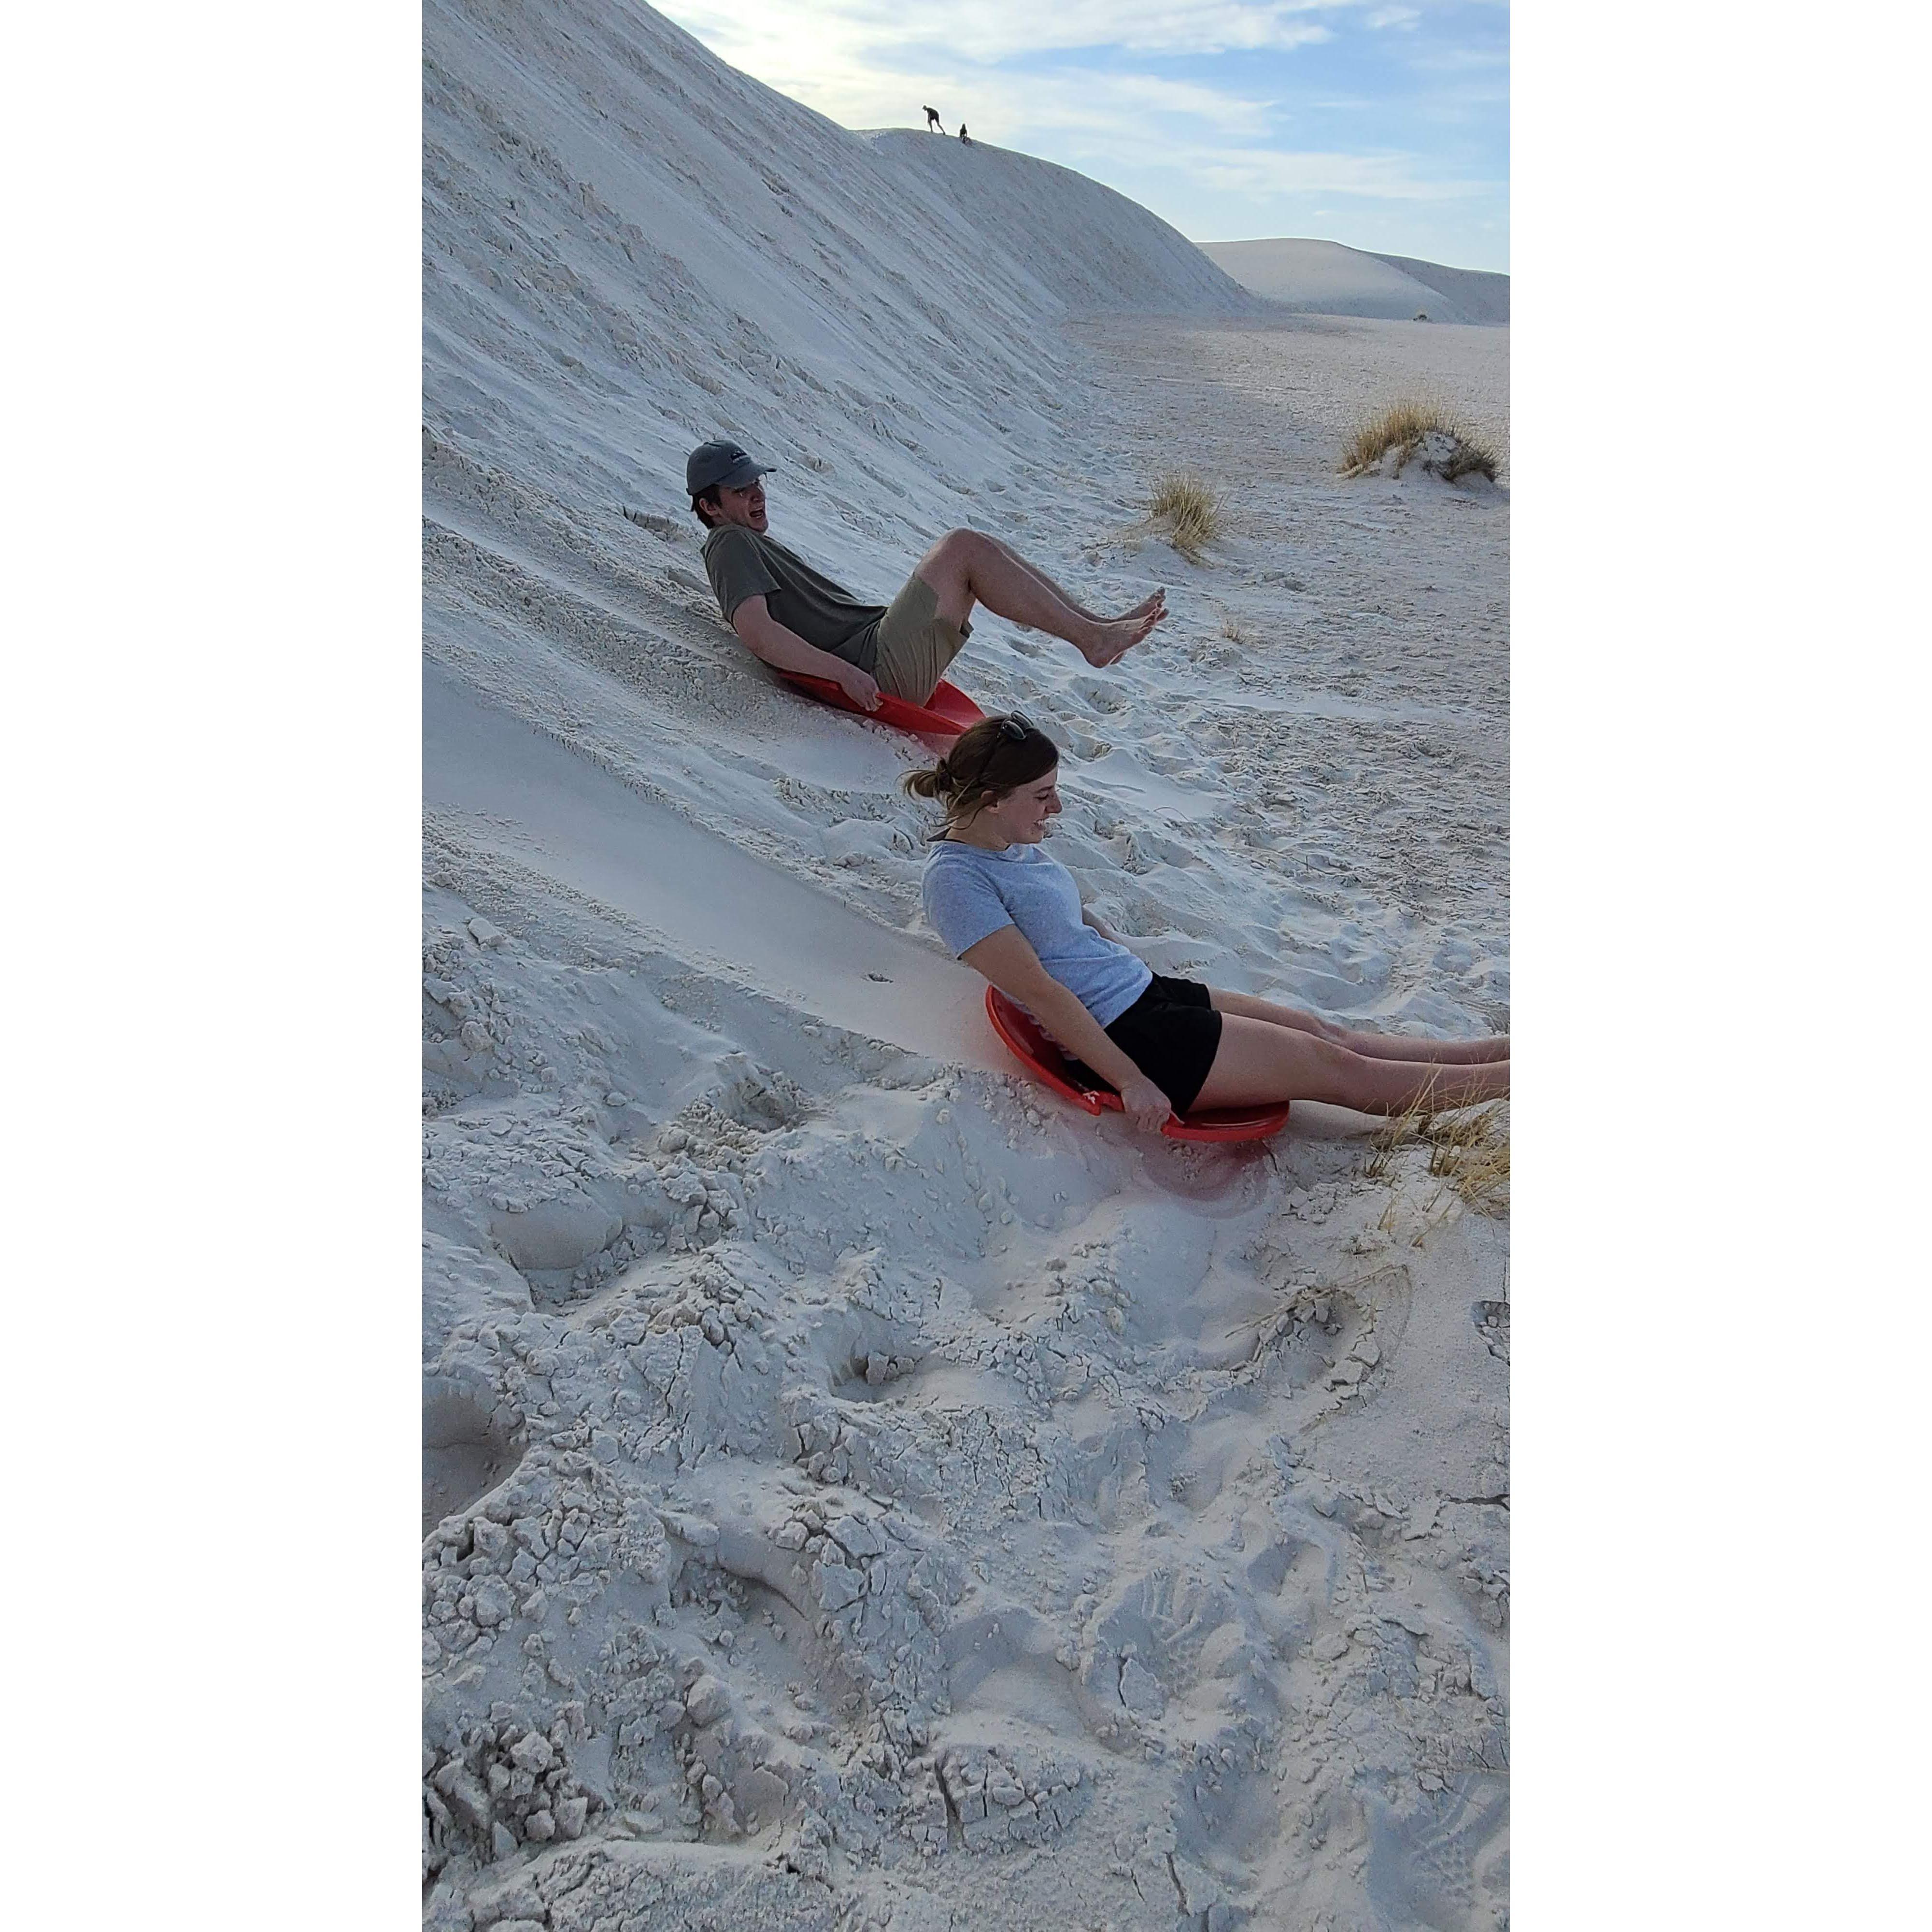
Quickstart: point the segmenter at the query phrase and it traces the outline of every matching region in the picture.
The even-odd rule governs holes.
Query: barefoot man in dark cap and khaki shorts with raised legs
[[[1167,616],[1167,593],[1121,616],[1068,597],[1037,564],[978,529],[949,529],[891,605],[860,603],[765,529],[771,464],[736,442],[705,442],[684,464],[692,512],[705,526],[705,572],[724,622],[775,670],[831,678],[864,711],[881,694],[923,705],[972,634],[972,609],[1070,643],[1111,665]]]

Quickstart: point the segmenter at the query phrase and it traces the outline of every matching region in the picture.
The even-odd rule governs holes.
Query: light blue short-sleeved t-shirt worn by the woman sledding
[[[1153,980],[1146,960],[1101,939],[1080,918],[1074,875],[1039,846],[987,852],[943,838],[925,860],[920,896],[925,918],[954,958],[1003,925],[1018,925],[1039,964],[1101,1026],[1113,1026]]]

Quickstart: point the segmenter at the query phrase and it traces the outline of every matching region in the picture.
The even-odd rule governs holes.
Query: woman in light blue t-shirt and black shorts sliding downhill
[[[1082,908],[1072,873],[1039,848],[1061,810],[1059,761],[1037,724],[1009,713],[974,724],[935,767],[906,779],[906,790],[947,808],[925,860],[925,918],[1113,1086],[1136,1126],[1258,1101],[1406,1113],[1509,1094],[1507,1037],[1364,1034],[1151,972]]]

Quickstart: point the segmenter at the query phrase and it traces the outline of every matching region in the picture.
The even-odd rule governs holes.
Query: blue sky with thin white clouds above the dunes
[[[1509,267],[1507,0],[657,0],[846,128],[1078,168],[1196,242]]]

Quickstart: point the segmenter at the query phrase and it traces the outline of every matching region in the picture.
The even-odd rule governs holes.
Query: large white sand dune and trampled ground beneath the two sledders
[[[877,597],[968,522],[1165,585],[1115,672],[954,667],[1066,748],[1055,850],[1161,970],[1474,1034],[1507,497],[1335,452],[1418,375],[1507,444],[1507,330],[1258,311],[628,0],[425,52],[425,1922],[1499,1922],[1505,1227],[1350,1115],[1024,1086],[922,748],[746,657],[682,460]]]

